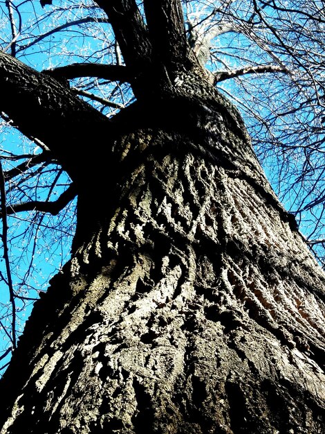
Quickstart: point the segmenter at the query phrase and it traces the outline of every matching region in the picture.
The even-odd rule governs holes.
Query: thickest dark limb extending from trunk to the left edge
[[[110,121],[71,89],[0,52],[0,111],[45,144],[73,180],[84,177]],[[99,148],[97,148],[98,150]]]

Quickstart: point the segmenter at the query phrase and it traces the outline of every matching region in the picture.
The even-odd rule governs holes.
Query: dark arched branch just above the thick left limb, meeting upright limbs
[[[66,67],[46,69],[44,73],[54,78],[97,77],[104,80],[131,82],[133,76],[128,67],[118,64],[73,63]]]

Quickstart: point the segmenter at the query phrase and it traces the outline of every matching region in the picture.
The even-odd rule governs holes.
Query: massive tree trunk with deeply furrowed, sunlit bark
[[[236,110],[175,83],[115,119],[85,174],[1,434],[324,433],[324,274]]]

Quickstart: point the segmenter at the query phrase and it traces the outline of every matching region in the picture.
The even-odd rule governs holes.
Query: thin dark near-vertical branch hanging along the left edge
[[[15,304],[15,293],[12,285],[12,277],[10,270],[9,261],[9,250],[8,250],[8,222],[7,222],[7,207],[6,207],[6,187],[5,179],[3,176],[3,169],[0,159],[0,194],[1,194],[1,218],[2,218],[2,243],[3,243],[3,259],[6,263],[7,272],[7,284],[10,294],[10,303],[12,309],[12,322],[11,322],[11,336],[10,340],[12,342],[12,348],[16,348],[16,304]]]

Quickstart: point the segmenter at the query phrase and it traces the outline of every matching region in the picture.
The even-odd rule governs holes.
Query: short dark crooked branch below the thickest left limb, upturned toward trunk
[[[41,211],[56,216],[59,211],[64,209],[71,200],[77,196],[75,184],[68,186],[68,189],[54,202],[41,202],[41,200],[31,200],[30,202],[17,203],[6,208],[6,214],[16,214],[21,211]]]

